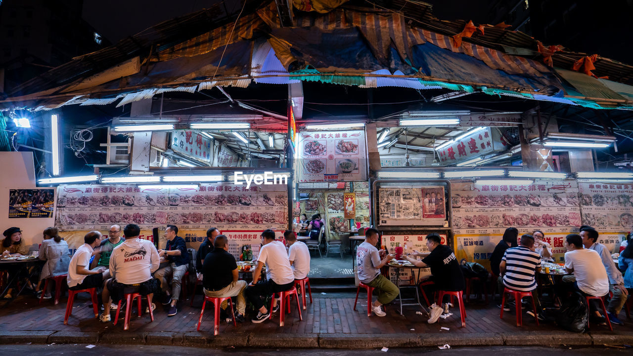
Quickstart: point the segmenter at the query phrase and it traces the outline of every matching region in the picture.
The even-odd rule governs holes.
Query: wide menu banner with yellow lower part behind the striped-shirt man
[[[489,267],[494,246],[507,227],[516,227],[519,236],[541,230],[556,262],[563,262],[565,236],[582,225],[578,185],[573,180],[529,185],[455,182],[451,186],[455,252],[468,262]]]

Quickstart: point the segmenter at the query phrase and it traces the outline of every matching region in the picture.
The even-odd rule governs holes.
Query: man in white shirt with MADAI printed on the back
[[[152,303],[154,292],[159,289],[159,281],[152,273],[160,265],[156,246],[149,240],[139,239],[141,228],[136,224],[127,224],[123,228],[125,241],[116,246],[110,255],[110,274],[103,293],[105,310],[99,320],[110,321],[110,303],[118,304],[125,293],[139,293],[149,299],[148,308],[156,308]],[[106,298],[106,290],[109,298]],[[111,300],[110,300],[111,298]]]

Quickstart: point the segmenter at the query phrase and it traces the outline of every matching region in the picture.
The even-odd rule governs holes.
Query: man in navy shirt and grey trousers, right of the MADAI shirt
[[[185,240],[178,236],[177,226],[168,225],[165,229],[165,236],[167,237],[167,245],[165,250],[158,250],[158,255],[165,257],[165,260],[170,263],[166,267],[157,270],[154,273],[154,277],[160,281],[161,289],[165,293],[163,305],[171,303],[167,312],[167,315],[171,317],[178,312],[176,303],[180,296],[182,277],[189,266],[189,253],[187,253]],[[172,284],[171,293],[169,289],[170,282]]]

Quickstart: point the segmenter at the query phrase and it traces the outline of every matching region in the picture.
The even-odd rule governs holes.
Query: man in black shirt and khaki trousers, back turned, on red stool
[[[204,293],[213,298],[225,298],[237,296],[237,310],[235,321],[244,322],[246,302],[244,289],[246,281],[238,281],[237,264],[235,257],[229,252],[229,240],[224,235],[218,235],[213,242],[213,251],[207,253],[202,265]],[[222,302],[221,307],[227,308],[227,302]]]

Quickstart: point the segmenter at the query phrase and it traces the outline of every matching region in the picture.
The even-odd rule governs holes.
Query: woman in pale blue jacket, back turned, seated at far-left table
[[[68,264],[70,264],[68,243],[61,239],[57,227],[47,227],[43,234],[44,241],[40,245],[39,259],[46,261],[46,263],[42,267],[39,284],[35,290],[37,296],[41,296],[42,281],[49,277],[68,273]],[[44,299],[51,298],[51,288],[53,288],[53,283],[49,283],[44,291]]]

